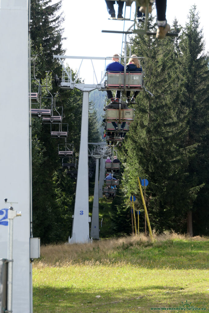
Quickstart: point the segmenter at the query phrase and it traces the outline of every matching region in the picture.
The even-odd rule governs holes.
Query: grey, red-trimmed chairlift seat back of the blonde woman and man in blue
[[[106,90],[123,90],[124,89],[124,73],[123,72],[107,72],[107,80],[105,81]],[[126,90],[142,90],[144,87],[143,72],[126,73],[125,88]]]

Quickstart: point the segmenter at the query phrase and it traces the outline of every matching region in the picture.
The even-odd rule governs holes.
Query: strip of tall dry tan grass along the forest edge
[[[154,244],[149,236],[140,234],[118,239],[102,239],[90,244],[50,244],[41,247],[41,259],[35,261],[36,266],[68,266],[71,264],[117,264],[137,261],[133,253],[136,249],[151,247],[166,241],[206,241],[204,237],[188,237],[186,235],[165,232],[161,235],[153,233]],[[127,254],[128,250],[128,254]],[[123,258],[123,251],[126,257]]]

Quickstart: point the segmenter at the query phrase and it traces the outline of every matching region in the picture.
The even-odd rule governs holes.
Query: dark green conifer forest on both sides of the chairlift
[[[45,85],[46,72],[50,71],[48,89],[53,95],[57,93],[56,105],[63,107],[63,123],[68,123],[69,140],[78,155],[82,92],[61,90],[54,83],[54,76],[62,75],[62,66],[53,54],[65,54],[61,6],[62,1],[52,4],[51,0],[31,0],[31,77],[34,55],[38,55],[35,75]],[[134,121],[118,149],[121,183],[116,197],[108,200],[111,223],[107,237],[132,233],[131,195],[138,198],[136,209],[144,216],[138,176],[149,181],[146,206],[156,233],[166,230],[209,235],[209,55],[204,50],[195,5],[188,17],[182,26],[178,20],[173,21],[171,32],[179,33],[178,37],[157,40],[134,34],[129,38],[132,54],[146,59],[144,82],[153,96],[145,90],[139,93],[133,104]],[[155,21],[150,14],[150,31],[156,28]],[[103,91],[90,93],[89,142],[104,140],[105,95]],[[42,103],[50,105],[44,87]],[[62,169],[58,143],[59,139],[51,138],[49,125],[32,119],[33,229],[34,237],[40,237],[42,244],[66,242],[71,236],[76,180]],[[94,184],[94,176],[89,183]],[[140,231],[144,232],[143,223]]]

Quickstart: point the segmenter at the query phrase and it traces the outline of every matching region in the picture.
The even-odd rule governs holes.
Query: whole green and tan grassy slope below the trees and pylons
[[[199,237],[43,247],[33,269],[34,313],[147,313],[150,307],[177,307],[186,300],[208,312],[207,262],[208,240]]]

